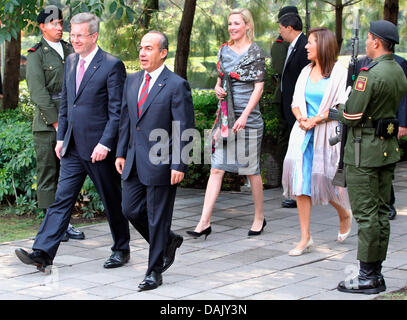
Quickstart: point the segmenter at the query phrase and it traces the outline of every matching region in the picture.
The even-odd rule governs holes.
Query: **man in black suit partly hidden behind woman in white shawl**
[[[281,76],[281,106],[280,112],[280,135],[279,153],[284,160],[287,152],[290,132],[296,121],[292,111],[291,102],[293,100],[295,84],[301,70],[310,63],[307,59],[307,37],[302,33],[302,20],[298,15],[297,7],[287,6],[280,10],[278,14],[278,33],[290,43],[284,63],[283,74]],[[282,162],[282,161],[281,161]],[[297,206],[295,200],[287,199],[283,201],[283,207],[294,208]]]

